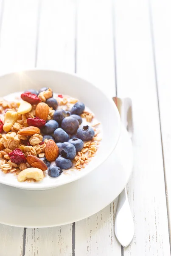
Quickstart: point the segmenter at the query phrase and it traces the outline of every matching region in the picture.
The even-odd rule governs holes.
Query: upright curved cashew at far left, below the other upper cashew
[[[15,111],[6,111],[4,116],[3,130],[8,132],[18,119],[18,114]]]

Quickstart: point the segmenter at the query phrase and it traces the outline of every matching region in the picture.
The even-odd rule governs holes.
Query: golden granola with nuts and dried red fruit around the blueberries
[[[13,158],[10,157],[10,155],[12,155],[15,150],[20,152],[20,154],[23,156],[23,159],[29,159],[29,157],[27,157],[29,155],[39,158],[46,157],[45,149],[47,147],[47,154],[47,143],[49,140],[45,139],[45,141],[42,142],[43,136],[41,131],[44,131],[42,127],[45,125],[45,122],[53,119],[54,113],[56,111],[56,108],[50,107],[46,103],[47,99],[51,97],[54,97],[58,102],[57,110],[71,111],[73,105],[78,102],[78,99],[74,99],[62,94],[54,96],[50,88],[42,88],[39,91],[38,96],[33,96],[32,93],[22,93],[24,102],[8,102],[3,99],[0,100],[0,113],[4,116],[5,113],[8,112],[6,114],[8,117],[6,119],[7,122],[4,126],[6,132],[4,133],[2,130],[0,133],[0,168],[4,173],[13,172],[14,175],[18,176],[21,172],[25,173],[23,171],[31,168],[27,161],[25,162],[23,160],[24,162],[13,162]],[[17,97],[16,99],[20,101],[20,97]],[[83,103],[81,104],[84,105]],[[75,105],[77,110],[78,105],[80,106],[80,102]],[[100,123],[95,120],[93,113],[87,111],[87,109],[84,111],[83,110],[84,109],[81,109],[80,112],[80,116],[83,119],[82,124],[91,126],[95,131],[95,134],[92,140],[84,141],[83,148],[81,146],[82,149],[76,153],[76,156],[72,160],[73,166],[70,168],[71,172],[76,170],[80,171],[87,166],[92,157],[95,156],[98,149],[98,144],[101,141],[101,138],[99,137],[100,130],[98,129]],[[8,121],[10,121],[9,125]],[[59,126],[61,126],[60,122],[61,121],[59,120]],[[36,133],[33,132],[33,127],[34,129],[38,129],[37,131],[34,131]],[[53,132],[51,134],[53,134]],[[89,137],[87,137],[87,139],[88,138]],[[56,145],[56,143],[53,144]],[[51,160],[51,158],[48,159]],[[55,158],[53,158],[53,160],[54,159]],[[71,175],[71,172],[69,175]],[[64,173],[68,174],[68,172]],[[41,172],[37,172],[37,174],[42,175]],[[41,180],[43,177],[44,176],[40,177],[38,180]],[[26,177],[26,180],[31,182],[33,181],[33,177]]]

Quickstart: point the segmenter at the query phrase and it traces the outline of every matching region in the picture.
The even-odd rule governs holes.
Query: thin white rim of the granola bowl
[[[102,163],[104,163],[104,161],[107,160],[107,158],[112,154],[112,152],[115,150],[116,148],[116,145],[118,144],[118,141],[119,141],[119,138],[120,138],[120,135],[121,135],[121,118],[120,118],[120,115],[119,115],[119,112],[118,112],[118,108],[116,107],[115,105],[115,102],[112,100],[112,97],[110,98],[104,91],[102,91],[101,89],[99,89],[96,84],[94,84],[93,82],[89,81],[88,79],[84,78],[84,76],[79,76],[78,74],[76,73],[70,73],[70,72],[65,72],[65,71],[62,71],[62,70],[53,70],[53,69],[47,69],[47,68],[30,68],[30,69],[24,69],[24,70],[13,70],[11,72],[8,72],[8,73],[3,73],[2,75],[0,75],[0,79],[3,78],[3,77],[6,77],[6,76],[9,76],[9,75],[14,75],[14,74],[17,74],[17,73],[24,73],[24,72],[36,72],[36,71],[40,71],[40,72],[54,72],[54,73],[61,73],[61,74],[64,74],[64,75],[69,75],[69,76],[73,76],[73,77],[77,77],[78,79],[81,79],[85,82],[88,82],[91,84],[91,86],[95,87],[96,90],[100,91],[102,94],[104,94],[104,96],[107,98],[107,100],[112,104],[113,108],[115,109],[115,112],[116,112],[116,116],[117,116],[117,119],[118,119],[118,137],[117,137],[117,140],[116,140],[116,143],[113,144],[113,146],[111,147],[110,151],[108,152],[108,154],[102,158],[101,161],[98,161],[98,163],[96,163],[96,165],[93,167],[93,168],[90,168],[89,171],[87,172],[82,172],[81,175],[76,175],[76,176],[73,176],[73,178],[71,180],[66,180],[66,181],[63,181],[62,183],[59,183],[59,184],[55,184],[53,183],[51,186],[49,184],[43,184],[42,186],[37,186],[37,187],[34,187],[34,186],[30,186],[30,187],[26,187],[23,183],[20,183],[18,182],[17,185],[16,184],[12,184],[12,183],[9,183],[8,181],[2,181],[0,180],[0,183],[1,184],[4,184],[4,185],[8,185],[8,186],[12,186],[12,187],[16,187],[18,189],[26,189],[26,190],[46,190],[46,189],[53,189],[53,188],[56,188],[58,186],[63,186],[67,183],[71,183],[75,180],[78,180],[80,178],[83,178],[85,177],[86,175],[90,174],[90,172],[92,172],[94,169],[98,168],[98,166],[100,166]],[[30,183],[31,184],[31,183]]]

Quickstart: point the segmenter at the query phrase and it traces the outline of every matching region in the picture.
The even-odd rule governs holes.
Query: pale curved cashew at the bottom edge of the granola
[[[17,179],[19,182],[25,181],[27,179],[34,179],[36,181],[40,181],[43,179],[43,177],[44,175],[41,169],[31,167],[21,171]]]

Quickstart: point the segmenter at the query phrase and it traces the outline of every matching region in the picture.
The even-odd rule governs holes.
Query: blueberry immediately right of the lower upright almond
[[[76,156],[76,148],[69,142],[64,142],[59,148],[59,153],[62,157],[73,160]]]

